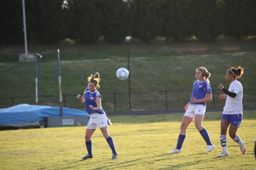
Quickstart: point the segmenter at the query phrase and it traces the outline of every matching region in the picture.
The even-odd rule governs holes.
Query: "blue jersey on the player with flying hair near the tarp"
[[[97,89],[95,89],[94,92],[90,92],[89,88],[87,87],[86,90],[84,90],[84,97],[86,98],[86,111],[88,114],[93,114],[93,113],[99,113],[99,114],[104,114],[104,110],[91,110],[89,105],[92,105],[93,107],[97,107],[96,103],[96,97],[99,97],[101,99],[101,95],[98,92]]]

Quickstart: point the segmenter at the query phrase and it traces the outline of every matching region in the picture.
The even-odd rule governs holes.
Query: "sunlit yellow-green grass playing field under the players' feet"
[[[207,115],[207,114],[206,114]],[[0,169],[254,169],[256,112],[244,113],[238,130],[246,142],[241,155],[237,143],[228,137],[229,157],[217,158],[221,113],[209,113],[203,126],[216,150],[204,153],[206,144],[193,124],[187,129],[183,152],[168,155],[176,147],[182,114],[110,116],[109,126],[117,160],[99,129],[92,137],[94,158],[82,161],[85,127],[62,127],[0,131]]]

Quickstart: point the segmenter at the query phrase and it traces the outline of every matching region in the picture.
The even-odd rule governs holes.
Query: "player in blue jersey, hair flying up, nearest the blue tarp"
[[[100,128],[103,136],[110,145],[113,153],[112,159],[116,159],[118,153],[116,152],[114,141],[109,135],[106,113],[101,107],[101,95],[97,90],[97,88],[99,88],[100,82],[99,73],[96,72],[94,75],[89,76],[87,79],[89,82],[88,87],[86,88],[86,90],[84,90],[83,95],[77,95],[77,99],[81,103],[86,103],[86,110],[88,114],[90,114],[90,119],[87,124],[85,136],[88,154],[82,159],[86,160],[93,157],[91,137],[97,127]]]

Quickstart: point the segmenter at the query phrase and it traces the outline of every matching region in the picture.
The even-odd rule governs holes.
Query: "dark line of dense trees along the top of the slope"
[[[241,39],[256,35],[255,0],[25,0],[28,41]],[[22,0],[0,0],[0,43],[24,41]]]

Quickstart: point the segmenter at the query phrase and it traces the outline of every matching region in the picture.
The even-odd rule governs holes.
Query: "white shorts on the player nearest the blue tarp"
[[[108,123],[106,122],[106,115],[93,113],[90,115],[86,129],[96,129],[97,127],[104,128],[106,126],[108,126]]]

